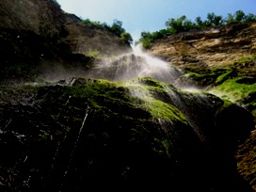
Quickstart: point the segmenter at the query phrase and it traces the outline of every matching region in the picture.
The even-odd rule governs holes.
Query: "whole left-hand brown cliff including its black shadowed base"
[[[102,58],[131,50],[104,26],[82,24],[54,0],[2,0],[0,21],[1,80],[31,80],[41,65],[85,69],[95,53]]]

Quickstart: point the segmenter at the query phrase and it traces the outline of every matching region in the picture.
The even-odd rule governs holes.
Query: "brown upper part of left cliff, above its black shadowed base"
[[[65,13],[53,0],[3,0],[0,6],[1,28],[63,38],[76,53],[87,55],[93,50],[111,56],[130,48],[104,27],[82,24],[78,17]]]

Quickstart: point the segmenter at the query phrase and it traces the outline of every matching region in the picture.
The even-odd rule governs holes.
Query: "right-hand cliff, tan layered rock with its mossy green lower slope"
[[[148,51],[185,74],[176,84],[202,88],[247,108],[256,122],[256,24],[190,30],[154,40]],[[255,132],[237,152],[238,169],[256,190]]]

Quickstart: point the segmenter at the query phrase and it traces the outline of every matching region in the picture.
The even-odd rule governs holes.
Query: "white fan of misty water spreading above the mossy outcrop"
[[[133,47],[132,53],[101,62],[88,73],[90,78],[104,78],[111,81],[152,77],[158,81],[173,83],[183,72],[168,62],[147,55],[138,44]]]

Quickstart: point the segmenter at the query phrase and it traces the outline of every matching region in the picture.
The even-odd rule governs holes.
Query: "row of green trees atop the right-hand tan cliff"
[[[189,29],[199,29],[207,26],[221,26],[235,23],[256,22],[256,15],[252,13],[246,15],[242,10],[237,10],[234,14],[229,13],[226,19],[220,15],[216,15],[214,12],[208,13],[206,18],[207,19],[205,21],[202,21],[200,17],[197,17],[195,22],[188,20],[185,15],[177,19],[170,18],[166,22],[166,29],[161,29],[152,33],[141,32],[140,39],[136,43],[140,42],[145,49],[148,49],[150,48],[153,40],[161,39],[175,33],[187,31]]]

